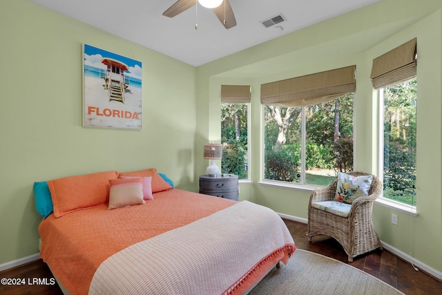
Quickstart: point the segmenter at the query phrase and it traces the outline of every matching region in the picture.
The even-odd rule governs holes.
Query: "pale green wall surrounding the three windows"
[[[383,0],[198,67],[195,154],[202,153],[207,138],[220,139],[220,85],[248,81],[252,86],[252,184],[241,191],[240,200],[306,220],[310,191],[259,183],[263,174],[260,84],[356,64],[355,169],[376,173],[378,104],[369,79],[372,60],[417,37],[419,216],[374,204],[373,220],[383,242],[442,278],[441,8],[439,0]],[[204,173],[204,162],[197,158],[195,165],[197,175]],[[398,215],[397,226],[391,223],[392,213]]]

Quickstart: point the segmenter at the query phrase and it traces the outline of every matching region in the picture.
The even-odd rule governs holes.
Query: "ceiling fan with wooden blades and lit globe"
[[[194,6],[196,1],[197,0],[178,0],[173,6],[169,7],[168,10],[164,11],[163,15],[165,17],[175,17],[181,12]],[[224,28],[229,29],[236,26],[235,15],[233,15],[229,0],[198,0],[198,2],[206,8],[212,8]],[[211,5],[212,3],[213,5]],[[215,5],[218,6],[214,7]],[[195,28],[198,28],[198,26]]]

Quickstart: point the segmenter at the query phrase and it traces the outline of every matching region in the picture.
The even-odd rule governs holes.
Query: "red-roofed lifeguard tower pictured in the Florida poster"
[[[108,90],[109,102],[116,100],[124,103],[124,93],[126,93],[126,88],[129,86],[126,77],[124,77],[124,71],[128,70],[129,67],[121,61],[108,57],[102,59],[102,64],[108,67],[102,78],[106,82],[104,89]]]

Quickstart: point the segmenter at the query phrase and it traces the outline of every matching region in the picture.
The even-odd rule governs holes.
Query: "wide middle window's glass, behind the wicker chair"
[[[353,93],[314,106],[264,107],[264,179],[328,185],[353,169]]]

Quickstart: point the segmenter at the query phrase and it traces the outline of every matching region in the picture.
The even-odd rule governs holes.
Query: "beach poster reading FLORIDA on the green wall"
[[[142,129],[142,63],[84,44],[84,126]]]

